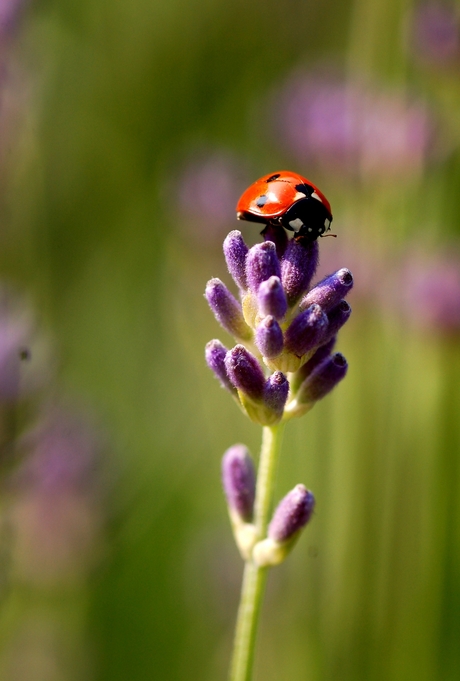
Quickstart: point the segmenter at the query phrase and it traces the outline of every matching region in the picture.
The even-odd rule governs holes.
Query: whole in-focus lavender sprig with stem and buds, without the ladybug
[[[333,349],[351,312],[344,300],[353,286],[351,272],[339,269],[311,287],[318,242],[288,241],[275,227],[264,236],[252,248],[236,230],[224,241],[238,298],[219,279],[211,279],[205,293],[216,320],[237,341],[230,349],[210,341],[207,364],[242,411],[263,426],[257,477],[244,445],[228,449],[222,464],[235,541],[246,562],[231,681],[252,675],[267,568],[286,558],[314,510],[312,492],[296,485],[270,521],[282,427],[325,397],[348,368]]]

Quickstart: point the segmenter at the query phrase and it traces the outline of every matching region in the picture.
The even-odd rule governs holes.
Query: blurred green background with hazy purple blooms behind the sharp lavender
[[[321,271],[355,276],[350,370],[286,429],[278,496],[303,482],[317,512],[270,576],[255,680],[458,679],[460,5],[9,4],[1,277],[48,338],[47,399],[106,445],[77,577],[37,578],[30,550],[24,575],[13,513],[2,678],[226,678],[242,563],[220,459],[260,429],[205,366],[230,341],[203,291],[229,283],[239,193],[290,168],[333,207]]]

